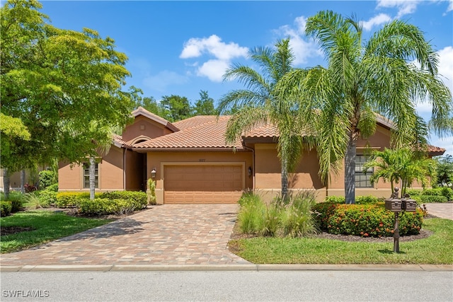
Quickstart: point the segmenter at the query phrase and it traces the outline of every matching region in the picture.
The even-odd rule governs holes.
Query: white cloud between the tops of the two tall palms
[[[300,16],[294,19],[294,26],[282,25],[275,30],[275,33],[281,37],[289,37],[289,46],[294,53],[295,65],[305,64],[312,57],[323,57],[323,53],[319,50],[316,42],[304,40],[305,25],[306,18]]]

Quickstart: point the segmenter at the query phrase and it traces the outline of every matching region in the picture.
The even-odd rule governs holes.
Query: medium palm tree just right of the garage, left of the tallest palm
[[[294,54],[289,39],[279,40],[275,49],[256,47],[249,57],[258,64],[260,71],[241,64],[234,64],[224,74],[224,80],[237,79],[246,89],[226,93],[219,102],[219,114],[235,109],[226,130],[226,142],[233,143],[244,132],[253,127],[270,124],[279,132],[277,151],[282,170],[282,199],[288,192],[287,175],[299,162],[303,141],[302,119],[297,119],[297,102],[294,99],[279,98],[277,83],[293,70]]]

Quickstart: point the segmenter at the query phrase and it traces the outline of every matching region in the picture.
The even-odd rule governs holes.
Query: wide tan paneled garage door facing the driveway
[[[165,204],[227,204],[243,190],[242,165],[165,165]]]

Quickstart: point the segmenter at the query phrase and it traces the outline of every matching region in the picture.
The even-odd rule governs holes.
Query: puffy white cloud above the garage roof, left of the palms
[[[248,48],[241,47],[234,42],[226,44],[217,35],[210,37],[193,37],[184,43],[181,59],[202,57],[203,54],[214,57],[199,66],[198,62],[192,64],[196,69],[197,76],[206,76],[211,81],[222,81],[222,77],[229,67],[231,59],[247,57]],[[189,66],[189,65],[188,65]]]

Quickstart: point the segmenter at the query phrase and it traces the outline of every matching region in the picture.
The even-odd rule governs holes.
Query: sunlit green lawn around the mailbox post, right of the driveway
[[[425,219],[429,238],[388,243],[346,242],[321,238],[248,238],[229,244],[256,264],[453,264],[453,221]]]

